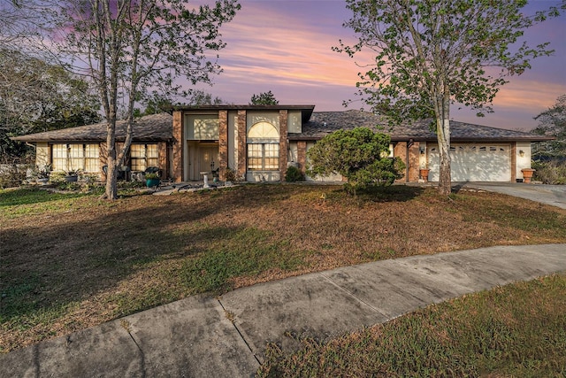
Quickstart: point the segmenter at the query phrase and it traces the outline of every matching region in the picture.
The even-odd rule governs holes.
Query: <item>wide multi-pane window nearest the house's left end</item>
[[[54,171],[98,172],[98,144],[51,144],[51,164]]]

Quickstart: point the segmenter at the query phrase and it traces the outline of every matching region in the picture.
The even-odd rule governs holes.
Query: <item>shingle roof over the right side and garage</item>
[[[432,120],[417,120],[389,129],[386,121],[371,112],[349,110],[346,112],[313,112],[310,121],[302,125],[301,134],[289,134],[291,140],[317,140],[340,128],[369,127],[391,135],[392,141],[436,141],[436,134],[431,131]],[[381,127],[379,127],[381,125]],[[532,135],[521,131],[487,127],[470,123],[450,121],[453,142],[536,142],[549,140],[547,136]]]

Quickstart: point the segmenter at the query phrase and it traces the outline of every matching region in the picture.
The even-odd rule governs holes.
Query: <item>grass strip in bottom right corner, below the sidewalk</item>
[[[259,377],[564,377],[566,275],[431,305],[333,339],[276,346]],[[490,375],[491,374],[491,375]]]

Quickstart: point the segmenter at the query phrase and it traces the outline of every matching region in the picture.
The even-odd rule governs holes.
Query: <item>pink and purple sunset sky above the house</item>
[[[547,9],[559,1],[531,1],[526,10]],[[356,99],[356,66],[332,50],[342,39],[354,42],[342,27],[350,12],[341,0],[241,0],[241,11],[222,28],[227,42],[220,50],[224,72],[203,89],[233,104],[248,104],[253,94],[269,90],[279,104],[314,104],[315,112],[343,111],[344,100]],[[495,98],[495,113],[478,118],[452,108],[452,119],[509,129],[531,129],[532,118],[566,94],[566,15],[527,30],[528,41],[551,42],[552,57],[532,61],[532,70],[511,77]],[[371,55],[366,55],[371,59]],[[359,109],[357,102],[349,108]]]

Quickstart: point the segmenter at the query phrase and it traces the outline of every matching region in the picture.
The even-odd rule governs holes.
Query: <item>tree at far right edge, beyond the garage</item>
[[[533,155],[547,157],[566,157],[566,95],[559,96],[556,104],[534,118],[539,126],[532,130],[536,135],[555,136],[551,142],[534,145]]]

